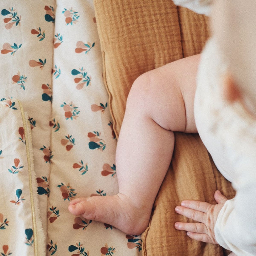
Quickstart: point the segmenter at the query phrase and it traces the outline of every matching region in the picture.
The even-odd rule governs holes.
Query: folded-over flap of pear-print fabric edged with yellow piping
[[[30,124],[20,102],[14,99],[0,102],[0,120],[0,252],[4,256],[40,255],[46,250]]]

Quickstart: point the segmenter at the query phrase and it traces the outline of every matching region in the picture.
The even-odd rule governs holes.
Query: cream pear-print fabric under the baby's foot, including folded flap
[[[1,255],[140,255],[140,236],[68,211],[74,198],[118,190],[93,1],[4,0],[0,10]],[[29,161],[20,105],[32,190],[21,179]],[[41,218],[28,207],[34,194]]]

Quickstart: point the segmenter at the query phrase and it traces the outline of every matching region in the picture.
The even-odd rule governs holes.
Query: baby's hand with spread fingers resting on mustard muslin
[[[176,206],[175,212],[195,220],[196,223],[176,222],[175,228],[187,231],[187,236],[197,241],[218,244],[215,240],[214,226],[220,210],[228,199],[218,190],[214,193],[214,199],[217,204],[193,200],[181,202],[181,206]]]

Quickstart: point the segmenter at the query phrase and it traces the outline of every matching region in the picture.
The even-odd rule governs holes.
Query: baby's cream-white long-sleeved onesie
[[[206,1],[174,2],[209,14],[209,6],[200,5]],[[229,104],[223,98],[226,68],[215,39],[209,39],[199,64],[194,116],[215,165],[236,190],[236,196],[226,201],[218,215],[215,238],[238,256],[255,256],[256,121],[239,102]]]

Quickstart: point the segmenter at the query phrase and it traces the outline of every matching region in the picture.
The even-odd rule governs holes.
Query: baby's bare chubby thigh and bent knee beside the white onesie
[[[196,133],[193,109],[199,59],[200,55],[183,58],[139,76],[127,106],[136,105],[166,130]]]

